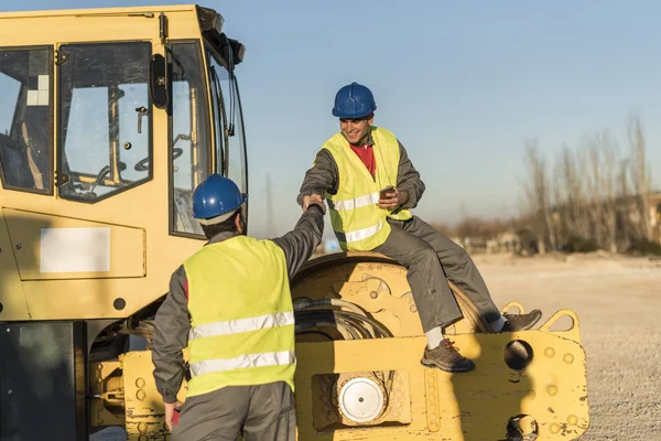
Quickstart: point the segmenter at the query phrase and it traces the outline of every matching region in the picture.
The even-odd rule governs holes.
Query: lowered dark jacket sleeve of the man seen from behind
[[[187,281],[181,266],[170,280],[170,292],[154,320],[152,362],[156,389],[164,402],[175,402],[185,374],[183,348],[188,344]]]

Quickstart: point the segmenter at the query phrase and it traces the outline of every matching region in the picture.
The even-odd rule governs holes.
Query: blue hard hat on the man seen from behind
[[[193,216],[208,219],[223,214],[234,213],[246,202],[237,184],[218,173],[212,174],[193,193]]]

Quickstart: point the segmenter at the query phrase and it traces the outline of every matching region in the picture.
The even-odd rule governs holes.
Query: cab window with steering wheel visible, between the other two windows
[[[151,44],[59,46],[58,195],[98,202],[152,175]]]

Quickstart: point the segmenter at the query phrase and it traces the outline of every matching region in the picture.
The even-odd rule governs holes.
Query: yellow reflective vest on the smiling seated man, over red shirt
[[[377,164],[375,178],[342,133],[334,135],[322,147],[337,163],[337,194],[327,193],[325,196],[333,229],[345,251],[372,250],[390,234],[388,217],[398,220],[411,218],[408,209],[392,213],[376,205],[381,190],[388,185],[397,186],[400,149],[394,135],[386,129],[372,127],[371,137]]]

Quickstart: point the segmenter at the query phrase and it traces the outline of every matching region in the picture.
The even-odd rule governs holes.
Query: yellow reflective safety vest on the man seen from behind
[[[294,389],[294,309],[284,252],[237,236],[184,262],[188,280],[187,396],[286,381]]]

